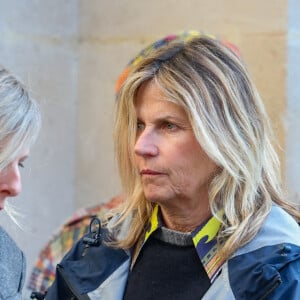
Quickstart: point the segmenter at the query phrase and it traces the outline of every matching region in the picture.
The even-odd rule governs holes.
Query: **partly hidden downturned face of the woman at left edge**
[[[0,210],[4,208],[7,197],[17,196],[22,189],[20,168],[24,165],[29,150],[23,151],[14,161],[0,171]]]

